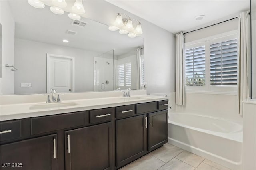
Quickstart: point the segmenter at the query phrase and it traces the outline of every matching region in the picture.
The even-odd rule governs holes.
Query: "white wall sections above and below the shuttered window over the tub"
[[[237,29],[238,19],[234,19],[185,34],[185,42],[190,42]],[[242,123],[242,117],[238,114],[238,98],[236,95],[185,93],[185,103],[185,106],[177,105],[176,110],[185,113],[196,113],[220,117]]]

